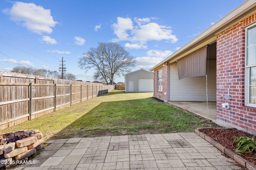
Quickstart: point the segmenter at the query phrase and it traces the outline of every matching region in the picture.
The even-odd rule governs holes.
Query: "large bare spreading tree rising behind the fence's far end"
[[[83,53],[78,66],[85,72],[95,68],[95,80],[113,84],[115,76],[120,77],[129,72],[135,63],[135,57],[117,43],[99,43],[97,48],[90,48],[87,53]]]

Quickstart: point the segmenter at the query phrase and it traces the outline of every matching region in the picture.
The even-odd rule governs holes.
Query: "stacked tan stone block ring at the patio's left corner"
[[[28,160],[43,147],[43,134],[38,130],[21,130],[2,134],[0,135],[0,167]]]

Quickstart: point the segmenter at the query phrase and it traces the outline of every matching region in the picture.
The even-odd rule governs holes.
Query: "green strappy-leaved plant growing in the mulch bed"
[[[245,154],[256,152],[256,143],[254,137],[236,137],[232,143],[232,147],[236,144],[236,153]]]

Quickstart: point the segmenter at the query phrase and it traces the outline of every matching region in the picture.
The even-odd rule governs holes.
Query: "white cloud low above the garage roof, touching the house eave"
[[[163,58],[160,57],[137,57],[136,58],[136,67],[149,70],[154,67],[156,64],[160,63]]]

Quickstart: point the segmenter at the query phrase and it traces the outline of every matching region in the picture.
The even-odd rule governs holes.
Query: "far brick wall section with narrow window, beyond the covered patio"
[[[162,92],[157,90],[157,71],[162,69]],[[154,70],[154,97],[159,98],[167,102],[168,98],[168,64],[166,66],[162,66],[157,70]]]

